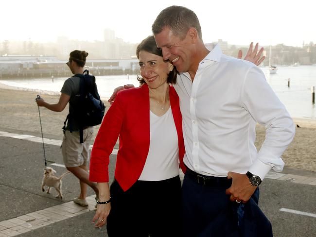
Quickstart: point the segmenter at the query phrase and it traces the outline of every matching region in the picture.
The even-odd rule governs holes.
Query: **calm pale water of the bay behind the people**
[[[279,67],[277,74],[269,74],[268,68],[261,68],[266,76],[267,82],[276,92],[291,114],[296,118],[316,119],[316,108],[312,104],[311,86],[316,86],[316,66]],[[290,88],[287,80],[290,78]],[[58,93],[65,78],[32,79],[32,80],[1,80],[6,85],[23,87],[31,90],[46,90]],[[109,98],[113,89],[124,84],[138,86],[136,75],[122,76],[98,76],[98,90],[103,98]]]

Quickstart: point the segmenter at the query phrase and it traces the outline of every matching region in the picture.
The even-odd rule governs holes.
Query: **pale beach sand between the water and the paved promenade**
[[[38,107],[35,103],[39,94],[49,103],[58,102],[59,95],[44,91],[25,91],[0,83],[0,131],[41,136]],[[106,108],[109,104],[102,98]],[[68,114],[68,106],[61,113],[40,107],[44,137],[62,140],[62,127]],[[285,167],[316,171],[316,119],[293,119],[300,127],[296,129],[293,142],[282,155]],[[99,126],[94,129],[94,137]],[[257,125],[256,147],[259,149],[265,137],[264,127]]]

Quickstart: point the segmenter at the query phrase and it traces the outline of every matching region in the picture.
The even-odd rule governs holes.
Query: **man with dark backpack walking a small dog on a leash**
[[[46,107],[55,112],[61,112],[69,102],[67,125],[65,121],[62,155],[66,168],[80,182],[80,194],[73,200],[81,206],[88,206],[87,189],[90,186],[96,196],[99,191],[95,183],[89,181],[88,152],[89,141],[93,135],[93,126],[100,124],[105,112],[105,106],[100,100],[95,84],[95,77],[84,70],[88,52],[74,50],[70,52],[66,63],[74,76],[68,78],[61,89],[59,101],[55,104],[36,99],[38,106]]]

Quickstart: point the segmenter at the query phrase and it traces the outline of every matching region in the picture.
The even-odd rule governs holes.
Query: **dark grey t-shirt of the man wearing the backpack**
[[[78,106],[80,100],[80,78],[79,77],[70,77],[65,82],[63,87],[60,90],[61,93],[70,96],[69,101],[69,113],[73,111],[74,107]],[[69,119],[67,121],[66,130],[70,130],[69,128]],[[72,131],[79,131],[79,124],[76,119],[73,119]]]

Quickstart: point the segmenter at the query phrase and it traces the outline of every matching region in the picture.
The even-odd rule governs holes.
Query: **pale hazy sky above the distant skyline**
[[[58,36],[102,41],[104,29],[139,43],[170,5],[190,8],[199,18],[204,43],[316,43],[315,0],[1,0],[0,41],[54,42]]]

